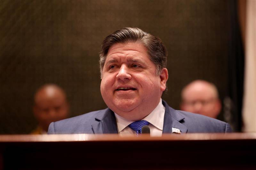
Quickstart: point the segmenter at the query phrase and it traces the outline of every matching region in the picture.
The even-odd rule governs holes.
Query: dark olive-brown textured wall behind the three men
[[[64,88],[71,116],[105,108],[100,44],[127,26],[164,41],[169,105],[178,109],[181,88],[198,78],[215,83],[223,98],[228,22],[222,0],[0,1],[0,133],[35,128],[33,95],[45,83]]]

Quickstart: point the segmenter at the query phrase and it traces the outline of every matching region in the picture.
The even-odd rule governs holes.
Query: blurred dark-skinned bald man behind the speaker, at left
[[[69,104],[59,86],[43,85],[37,90],[34,100],[33,112],[39,124],[31,134],[47,134],[51,122],[68,118]]]

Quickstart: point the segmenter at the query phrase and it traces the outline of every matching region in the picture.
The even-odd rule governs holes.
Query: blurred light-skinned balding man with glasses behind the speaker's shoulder
[[[181,91],[180,109],[217,118],[221,110],[221,102],[216,86],[204,80],[195,80]]]

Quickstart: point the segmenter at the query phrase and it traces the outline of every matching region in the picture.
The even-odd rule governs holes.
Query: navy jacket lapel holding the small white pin
[[[188,128],[182,124],[185,117],[169,107],[164,100],[163,105],[165,107],[163,133],[172,133],[172,128],[180,129],[181,133],[187,133]]]

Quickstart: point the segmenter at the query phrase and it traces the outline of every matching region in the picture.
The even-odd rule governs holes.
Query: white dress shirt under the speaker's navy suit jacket
[[[149,122],[148,127],[150,128],[150,136],[152,137],[162,136],[163,127],[164,127],[164,112],[165,112],[165,107],[162,104],[162,99],[160,99],[160,102],[158,103],[156,108],[149,115],[147,115],[142,119]],[[129,128],[128,126],[134,121],[126,120],[123,117],[117,115],[116,113],[115,113],[115,116],[116,116],[117,130],[120,136],[136,134],[136,132],[131,128]]]

